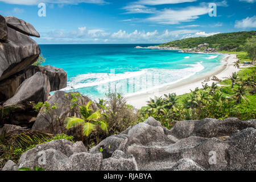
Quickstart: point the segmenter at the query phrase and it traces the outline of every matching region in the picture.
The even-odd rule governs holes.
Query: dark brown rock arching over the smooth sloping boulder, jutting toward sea
[[[63,69],[51,67],[50,65],[45,67],[31,65],[15,75],[0,81],[0,102],[13,97],[16,89],[18,89],[22,82],[37,72],[43,72],[49,78],[51,92],[67,86],[67,73]]]

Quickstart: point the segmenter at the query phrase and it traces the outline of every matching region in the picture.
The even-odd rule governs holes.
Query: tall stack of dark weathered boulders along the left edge
[[[30,23],[0,15],[0,105],[22,105],[10,111],[5,123],[31,126],[38,113],[28,102],[47,101],[49,92],[67,86],[63,69],[32,65],[38,60],[40,48],[30,36],[40,37]]]

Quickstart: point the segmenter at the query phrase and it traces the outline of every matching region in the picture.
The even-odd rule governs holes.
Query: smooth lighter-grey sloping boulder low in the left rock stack
[[[37,72],[34,76],[25,80],[16,90],[13,97],[7,100],[3,106],[23,104],[27,102],[47,101],[50,92],[49,79],[42,72]]]

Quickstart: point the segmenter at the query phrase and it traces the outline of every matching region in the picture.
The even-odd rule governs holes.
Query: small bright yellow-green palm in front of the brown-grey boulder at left
[[[101,113],[100,111],[96,111],[95,113],[93,113],[93,110],[89,109],[91,104],[92,101],[89,101],[86,106],[79,106],[82,118],[66,118],[64,123],[65,127],[67,129],[71,129],[73,127],[82,126],[81,136],[86,135],[86,137],[88,137],[89,134],[96,129],[96,125],[100,126],[102,130],[108,133],[108,124],[104,121],[98,121],[98,119],[101,118]]]

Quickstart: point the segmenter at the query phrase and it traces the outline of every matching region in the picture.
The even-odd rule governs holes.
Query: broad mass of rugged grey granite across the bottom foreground
[[[154,118],[102,140],[86,151],[81,142],[55,140],[25,152],[5,170],[256,170],[256,120],[180,121],[168,130]],[[102,147],[103,151],[100,151]],[[40,153],[39,153],[40,152]],[[46,164],[39,164],[39,154]]]

